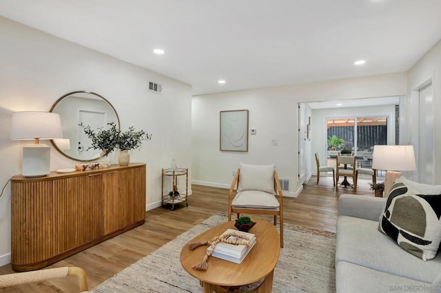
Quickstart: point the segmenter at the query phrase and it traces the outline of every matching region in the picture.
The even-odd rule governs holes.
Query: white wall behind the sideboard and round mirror
[[[147,163],[147,208],[160,203],[163,166],[176,158],[178,166],[191,167],[189,85],[2,17],[0,43],[0,188],[21,173],[23,142],[9,140],[12,112],[49,111],[59,97],[76,90],[109,100],[122,130],[134,126],[153,133],[130,153],[132,162]],[[163,85],[163,95],[147,90],[149,80]],[[52,147],[51,170],[74,164]],[[0,265],[10,261],[10,226],[8,185],[0,198]]]

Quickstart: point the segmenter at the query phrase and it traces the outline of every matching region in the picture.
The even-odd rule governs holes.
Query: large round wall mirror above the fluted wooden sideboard
[[[54,102],[50,111],[60,114],[64,138],[50,142],[62,155],[76,161],[90,162],[104,157],[101,150],[88,149],[92,145],[91,140],[79,124],[99,129],[115,122],[116,127],[120,127],[118,114],[112,104],[92,91],[65,94]]]

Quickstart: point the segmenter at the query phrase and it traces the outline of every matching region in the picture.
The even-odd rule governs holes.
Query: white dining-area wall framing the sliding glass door
[[[339,117],[369,117],[369,116],[384,116],[387,117],[387,141],[389,144],[395,143],[395,106],[382,105],[380,107],[348,107],[335,109],[316,109],[312,110],[312,155],[318,153],[320,155],[320,162],[325,161],[325,144],[327,144],[327,118]],[[314,166],[315,166],[314,160]],[[316,169],[312,168],[313,173],[316,174]]]

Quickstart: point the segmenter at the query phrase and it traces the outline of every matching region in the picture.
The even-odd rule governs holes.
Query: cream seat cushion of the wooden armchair
[[[240,191],[232,201],[232,208],[278,209],[278,200],[271,193],[263,191]]]

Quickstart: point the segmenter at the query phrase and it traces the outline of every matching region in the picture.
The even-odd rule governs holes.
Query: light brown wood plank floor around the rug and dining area
[[[358,195],[373,196],[369,180],[358,180]],[[114,276],[130,264],[160,248],[176,236],[201,223],[220,210],[227,210],[228,191],[223,188],[192,186],[189,206],[176,210],[148,210],[145,224],[116,236],[92,248],[63,259],[48,268],[78,266],[85,270],[91,288]],[[352,188],[338,188],[332,177],[311,177],[298,197],[284,197],[285,223],[335,232],[338,197],[353,193]],[[10,265],[0,267],[0,274],[14,272]],[[0,289],[0,292],[78,292],[73,276],[61,280],[43,281]]]

